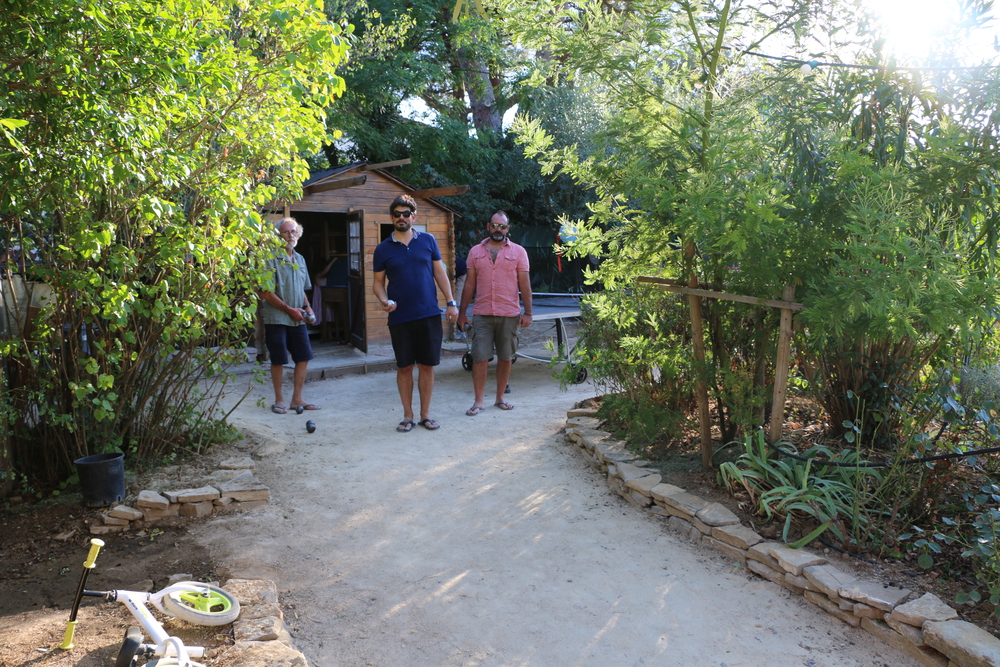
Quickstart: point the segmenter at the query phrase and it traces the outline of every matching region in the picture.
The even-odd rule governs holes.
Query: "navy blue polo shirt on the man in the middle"
[[[389,313],[390,325],[441,316],[434,285],[434,262],[440,259],[434,236],[415,229],[409,245],[390,234],[375,246],[372,270],[385,271],[386,292],[396,302],[396,310]]]

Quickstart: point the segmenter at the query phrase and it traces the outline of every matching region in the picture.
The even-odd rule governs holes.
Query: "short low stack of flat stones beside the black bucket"
[[[143,489],[134,505],[116,505],[101,514],[101,523],[90,527],[91,534],[106,535],[147,528],[168,517],[204,517],[215,512],[252,509],[268,504],[271,491],[254,477],[253,459],[228,459],[199,480],[201,486],[169,491]]]

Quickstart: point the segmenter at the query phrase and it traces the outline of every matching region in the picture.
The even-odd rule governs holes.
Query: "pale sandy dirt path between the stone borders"
[[[310,383],[324,409],[302,416],[248,399],[235,423],[270,452],[271,505],[194,536],[277,582],[317,667],[913,664],[612,495],[559,434],[592,387],[528,360],[511,385],[515,410],[466,417],[471,377],[447,358],[442,428],[408,434],[393,373]]]

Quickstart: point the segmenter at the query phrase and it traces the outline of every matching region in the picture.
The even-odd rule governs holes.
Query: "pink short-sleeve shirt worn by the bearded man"
[[[476,303],[472,314],[517,317],[521,314],[517,274],[528,271],[528,253],[507,239],[497,253],[497,261],[493,262],[489,242],[485,239],[472,246],[466,260],[466,264],[476,270]]]

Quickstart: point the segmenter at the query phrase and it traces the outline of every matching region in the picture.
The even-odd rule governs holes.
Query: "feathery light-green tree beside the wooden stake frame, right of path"
[[[639,275],[685,283],[696,275],[716,289],[780,298],[785,284],[801,282],[815,266],[819,230],[788,224],[794,209],[775,150],[781,126],[758,102],[774,81],[732,60],[737,54],[721,45],[742,39],[744,27],[755,32],[750,25],[763,30],[757,36],[766,34],[772,19],[805,25],[819,7],[774,6],[766,17],[749,3],[648,3],[621,13],[593,3],[567,9],[564,21],[579,30],[527,30],[529,38],[541,41],[541,30],[551,40],[559,54],[551,64],[563,65],[558,72],[590,102],[588,134],[575,142],[542,117],[521,117],[514,129],[544,173],[572,178],[600,197],[587,219],[564,219],[577,235],[570,256],[601,258],[591,283],[617,291]],[[608,320],[627,321],[631,304],[615,306]],[[777,313],[711,301],[700,308],[707,363],[693,369],[685,389],[699,378],[709,383],[723,438],[730,439],[765,418]],[[685,327],[657,337],[689,354]],[[609,349],[594,348],[593,356]]]

